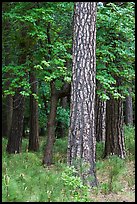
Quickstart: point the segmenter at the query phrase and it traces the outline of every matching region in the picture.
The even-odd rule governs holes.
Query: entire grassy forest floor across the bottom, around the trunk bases
[[[103,144],[97,144],[97,178],[99,185],[90,190],[73,169],[66,166],[67,138],[58,139],[54,147],[54,165],[42,166],[45,139],[40,138],[40,151],[27,151],[23,139],[21,154],[8,155],[3,139],[3,202],[135,202],[134,129],[125,127],[127,158],[111,156],[102,160]]]

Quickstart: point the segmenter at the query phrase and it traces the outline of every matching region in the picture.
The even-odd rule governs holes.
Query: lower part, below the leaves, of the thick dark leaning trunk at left
[[[25,99],[19,91],[13,97],[12,124],[6,149],[8,153],[21,152]]]

